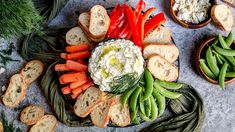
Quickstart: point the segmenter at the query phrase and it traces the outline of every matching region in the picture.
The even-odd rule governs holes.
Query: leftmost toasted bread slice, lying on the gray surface
[[[7,91],[3,95],[4,105],[15,108],[24,99],[27,90],[27,83],[21,74],[15,74],[11,77]]]

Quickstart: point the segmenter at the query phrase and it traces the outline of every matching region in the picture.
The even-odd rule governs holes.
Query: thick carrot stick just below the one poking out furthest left
[[[60,78],[61,84],[77,82],[79,80],[87,80],[87,75],[85,72],[76,72],[76,73],[66,73],[63,74]]]

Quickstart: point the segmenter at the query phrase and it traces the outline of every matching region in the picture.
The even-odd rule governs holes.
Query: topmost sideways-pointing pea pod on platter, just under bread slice
[[[159,83],[160,86],[171,90],[177,90],[183,87],[182,83],[166,82],[161,80],[157,80],[157,82]]]

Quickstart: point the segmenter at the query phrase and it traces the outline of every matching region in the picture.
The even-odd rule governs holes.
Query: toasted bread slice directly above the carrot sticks
[[[69,45],[79,45],[82,43],[89,44],[90,42],[81,27],[77,26],[66,33],[66,43]]]

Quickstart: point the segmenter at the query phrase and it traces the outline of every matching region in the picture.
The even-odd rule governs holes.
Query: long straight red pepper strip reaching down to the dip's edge
[[[136,27],[136,19],[135,19],[134,12],[131,9],[131,7],[127,6],[125,13],[129,22],[129,26],[130,26],[130,30],[133,36],[134,43],[140,48],[140,50],[142,50],[140,36],[138,35],[138,30]]]

